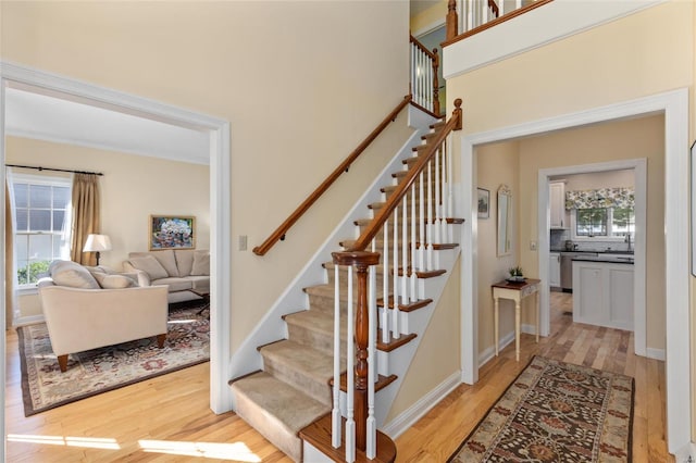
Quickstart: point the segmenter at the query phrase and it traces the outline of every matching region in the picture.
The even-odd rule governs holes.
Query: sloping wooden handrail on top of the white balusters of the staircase
[[[370,225],[365,228],[365,230],[360,235],[360,238],[353,243],[353,246],[349,249],[349,251],[364,251],[368,245],[372,242],[372,239],[375,237],[377,232],[382,228],[386,220],[391,215],[396,207],[401,202],[406,193],[409,191],[409,188],[415,182],[418,175],[425,168],[431,159],[435,155],[435,151],[439,148],[440,145],[445,141],[445,138],[452,130],[460,130],[462,126],[462,115],[461,115],[461,99],[455,100],[455,110],[452,111],[451,118],[447,122],[445,127],[440,130],[437,137],[433,138],[432,142],[427,143],[427,149],[419,157],[418,162],[411,167],[403,178],[403,180],[399,184],[398,188],[389,196],[384,207],[380,209],[380,212],[374,216]]]

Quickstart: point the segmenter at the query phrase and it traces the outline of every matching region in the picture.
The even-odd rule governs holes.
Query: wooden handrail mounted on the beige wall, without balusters
[[[309,196],[302,203],[290,214],[289,217],[281,224],[279,227],[266,238],[261,246],[253,248],[253,253],[257,255],[264,255],[278,241],[285,239],[285,234],[295,223],[309,210],[309,208],[316,202],[316,200],[333,185],[334,182],[345,172],[348,172],[350,165],[358,159],[360,154],[374,141],[375,138],[389,125],[390,122],[396,121],[396,116],[406,108],[411,101],[411,96],[407,95],[403,100],[391,110],[389,114],[375,127],[374,130],[362,140],[358,148],[356,148],[349,155],[341,162],[332,174],[326,177],[324,182]]]

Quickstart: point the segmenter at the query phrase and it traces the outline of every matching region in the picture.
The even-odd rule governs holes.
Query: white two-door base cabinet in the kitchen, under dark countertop
[[[573,261],[573,322],[633,330],[633,264]]]

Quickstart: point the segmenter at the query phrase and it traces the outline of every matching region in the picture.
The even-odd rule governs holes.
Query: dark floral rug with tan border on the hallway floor
[[[448,462],[630,462],[633,378],[535,356]]]

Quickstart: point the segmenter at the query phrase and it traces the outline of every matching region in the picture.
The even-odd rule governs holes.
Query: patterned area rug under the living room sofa
[[[45,323],[17,328],[24,414],[171,373],[210,359],[208,312],[200,303],[170,308],[164,348],[156,337],[71,354],[61,373]]]

